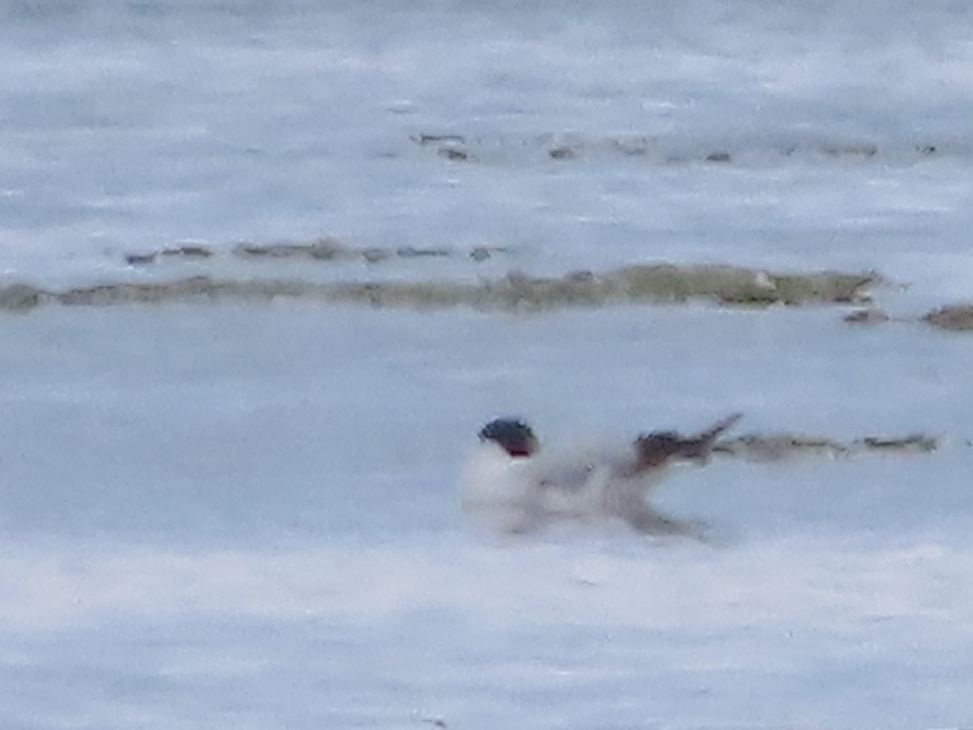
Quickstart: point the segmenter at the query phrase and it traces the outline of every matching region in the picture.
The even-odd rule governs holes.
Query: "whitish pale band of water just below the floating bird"
[[[10,586],[0,596],[0,619],[8,631],[50,631],[126,615],[368,624],[436,608],[487,622],[516,615],[549,623],[742,628],[754,616],[814,622],[839,595],[846,610],[866,616],[923,615],[928,605],[922,597],[930,591],[944,596],[936,590],[941,581],[952,576],[962,582],[970,566],[968,547],[865,549],[800,537],[777,540],[774,549],[607,540],[594,547],[528,543],[497,550],[450,533],[427,544],[288,552],[100,549],[81,564],[64,561],[56,550],[25,549],[0,559]],[[847,574],[859,580],[835,582],[835,575]],[[781,579],[787,590],[780,589]],[[888,591],[896,585],[909,589]],[[730,607],[729,596],[735,599]],[[937,611],[944,620],[969,617],[968,603],[959,598]]]

